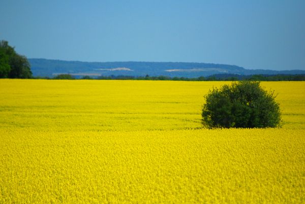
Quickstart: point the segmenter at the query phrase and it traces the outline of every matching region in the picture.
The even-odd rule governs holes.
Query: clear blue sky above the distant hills
[[[305,1],[2,0],[0,40],[28,58],[305,70]]]

